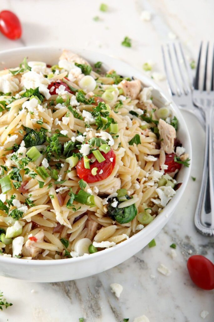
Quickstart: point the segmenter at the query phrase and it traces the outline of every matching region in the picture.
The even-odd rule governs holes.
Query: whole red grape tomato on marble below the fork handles
[[[206,257],[191,256],[187,261],[187,269],[195,285],[201,289],[214,289],[214,265]]]

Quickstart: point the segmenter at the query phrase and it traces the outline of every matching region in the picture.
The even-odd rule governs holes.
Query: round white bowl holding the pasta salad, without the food
[[[162,90],[150,78],[144,76],[132,66],[104,54],[75,48],[71,50],[85,57],[91,63],[103,62],[105,70],[113,68],[118,74],[128,77],[134,76],[141,80],[143,85],[152,86],[154,88],[152,96],[158,107],[168,102]],[[23,47],[3,51],[0,52],[0,70],[5,67],[12,68],[18,66],[24,57],[27,57],[30,61],[43,61],[53,65],[58,62],[61,52],[62,48],[51,47]],[[191,141],[184,118],[173,102],[170,104],[170,108],[179,122],[177,137],[183,143],[191,159]],[[89,256],[64,260],[22,260],[0,256],[0,274],[6,277],[33,282],[58,282],[94,275],[122,263],[145,247],[165,226],[181,199],[189,175],[190,167],[183,166],[177,177],[178,182],[182,182],[182,185],[177,190],[175,196],[170,200],[163,212],[158,214],[148,226],[128,240]]]

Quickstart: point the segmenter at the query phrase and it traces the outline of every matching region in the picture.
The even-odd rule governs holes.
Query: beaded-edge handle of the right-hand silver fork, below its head
[[[195,212],[195,226],[205,235],[214,234],[214,162],[213,162],[213,109],[205,110],[205,155],[201,189]]]

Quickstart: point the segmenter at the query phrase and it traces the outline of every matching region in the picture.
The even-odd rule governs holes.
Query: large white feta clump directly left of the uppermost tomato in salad
[[[35,71],[28,71],[21,76],[21,86],[24,86],[27,90],[32,88],[35,90],[39,87],[39,92],[45,96],[46,99],[50,98],[49,90],[47,89],[50,81],[42,75]]]

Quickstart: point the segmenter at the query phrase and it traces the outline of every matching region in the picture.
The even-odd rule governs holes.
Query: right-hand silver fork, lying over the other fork
[[[194,79],[193,101],[201,107],[205,115],[205,155],[201,189],[195,212],[195,226],[205,235],[214,235],[214,139],[213,139],[213,111],[214,111],[214,48],[212,55],[211,86],[208,89],[207,67],[209,43],[206,48],[206,58],[203,76],[203,90],[199,88],[200,62],[202,43],[199,50],[196,75]]]

